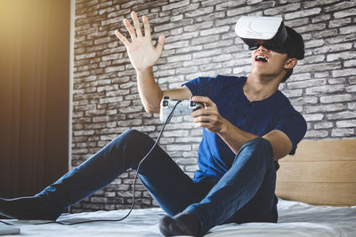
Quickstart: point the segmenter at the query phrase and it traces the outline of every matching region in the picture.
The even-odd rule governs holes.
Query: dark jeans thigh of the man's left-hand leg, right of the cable
[[[158,205],[170,216],[202,200],[214,186],[207,182],[193,182],[160,147],[153,152],[152,158],[142,162],[139,178]]]

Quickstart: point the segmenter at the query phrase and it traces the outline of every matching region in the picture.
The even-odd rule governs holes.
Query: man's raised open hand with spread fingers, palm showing
[[[142,28],[136,12],[131,12],[131,17],[134,21],[134,28],[130,24],[129,20],[124,19],[125,27],[131,36],[131,42],[129,42],[127,38],[118,30],[115,31],[115,35],[122,43],[125,44],[130,61],[136,71],[142,71],[153,67],[162,55],[165,36],[159,36],[158,45],[157,47],[154,47],[150,36],[150,23],[147,17],[142,17],[144,36],[142,36]]]

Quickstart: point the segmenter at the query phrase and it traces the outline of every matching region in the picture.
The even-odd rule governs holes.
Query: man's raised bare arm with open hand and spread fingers
[[[144,36],[142,36],[141,24],[136,13],[131,12],[131,17],[134,21],[134,28],[127,19],[124,20],[124,23],[132,41],[129,42],[118,30],[115,31],[115,34],[125,44],[127,54],[136,70],[138,91],[146,112],[159,113],[160,101],[163,96],[173,99],[189,99],[191,92],[185,86],[167,91],[160,89],[153,76],[153,65],[162,55],[165,36],[159,36],[158,45],[155,48],[150,37],[150,23],[147,17],[142,17]]]

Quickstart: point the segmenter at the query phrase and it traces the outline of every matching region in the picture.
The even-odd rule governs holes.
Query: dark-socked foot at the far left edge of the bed
[[[21,220],[55,220],[59,217],[59,215],[51,214],[45,207],[44,201],[36,196],[14,199],[0,198],[0,215]]]

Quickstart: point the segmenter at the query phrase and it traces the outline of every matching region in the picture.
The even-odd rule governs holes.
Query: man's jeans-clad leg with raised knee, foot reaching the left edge
[[[63,209],[109,185],[125,170],[136,169],[153,144],[154,141],[142,132],[126,130],[97,154],[69,171],[36,196],[12,200],[1,199],[0,214],[20,219],[56,219]],[[173,168],[170,168],[171,166]],[[182,184],[187,187],[195,186],[191,179],[177,168],[169,155],[157,146],[142,163],[142,170],[140,170],[143,183],[149,187],[152,194],[158,196],[158,203],[162,204],[168,213],[179,212],[190,203],[197,201],[193,199],[194,201],[190,202],[190,195],[187,195],[189,201],[185,201],[182,196],[177,196],[176,203],[168,202],[166,200],[170,198],[165,198],[165,192],[158,190],[161,187],[170,187],[176,191],[178,188],[171,186],[169,182],[178,179],[182,180]],[[174,172],[178,172],[179,177],[169,178],[175,175]],[[151,183],[157,183],[157,186]],[[194,188],[191,189],[194,190]],[[166,194],[171,192],[172,197],[174,192],[166,190],[168,190]]]

